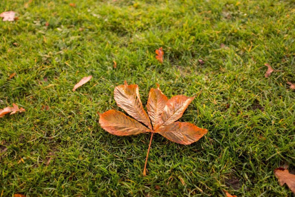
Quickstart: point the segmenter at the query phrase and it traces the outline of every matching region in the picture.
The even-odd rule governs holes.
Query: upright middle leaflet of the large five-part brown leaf
[[[158,124],[160,121],[161,114],[166,106],[168,98],[163,94],[163,92],[159,88],[150,89],[150,93],[148,96],[148,115],[152,121],[153,127]]]

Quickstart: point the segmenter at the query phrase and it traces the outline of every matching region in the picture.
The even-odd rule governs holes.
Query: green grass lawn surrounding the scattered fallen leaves
[[[0,196],[292,196],[273,170],[295,170],[295,3],[237,2],[1,1],[19,20],[0,22],[0,108],[26,112],[0,119]],[[265,78],[265,63],[279,71]],[[197,96],[180,121],[208,129],[189,146],[155,135],[146,177],[150,134],[98,123],[96,112],[122,111],[124,80],[144,106],[156,83]]]

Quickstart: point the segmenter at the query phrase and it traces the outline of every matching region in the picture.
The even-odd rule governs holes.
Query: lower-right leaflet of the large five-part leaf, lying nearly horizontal
[[[198,141],[203,135],[205,135],[207,133],[207,129],[199,128],[188,122],[175,122],[159,128],[156,132],[160,133],[168,140],[179,144],[189,145]]]

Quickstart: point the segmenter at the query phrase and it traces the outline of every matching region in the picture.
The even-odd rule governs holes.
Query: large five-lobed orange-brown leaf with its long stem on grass
[[[207,133],[207,129],[199,128],[192,123],[174,122],[181,118],[195,97],[177,95],[168,100],[160,90],[159,85],[157,86],[156,89],[152,88],[149,92],[148,114],[143,109],[138,85],[128,85],[126,81],[124,85],[115,87],[114,99],[120,108],[135,119],[117,110],[108,110],[102,114],[98,113],[101,128],[111,134],[127,136],[146,132],[151,133],[143,175],[146,175],[148,154],[154,133],[159,133],[179,144],[191,144]]]

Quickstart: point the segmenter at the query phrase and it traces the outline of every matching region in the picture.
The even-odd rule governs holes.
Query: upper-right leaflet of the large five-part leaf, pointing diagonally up
[[[182,115],[186,108],[189,106],[195,97],[186,97],[183,95],[177,95],[172,97],[166,103],[163,110],[159,123],[155,126],[155,131],[163,126],[177,121]]]

